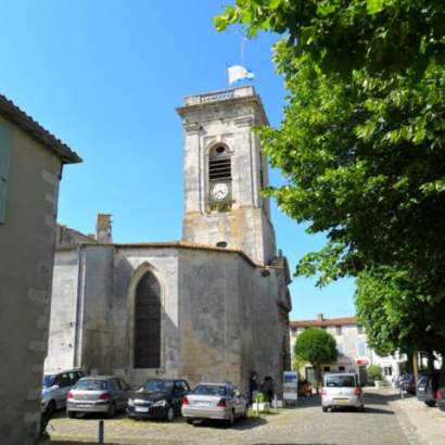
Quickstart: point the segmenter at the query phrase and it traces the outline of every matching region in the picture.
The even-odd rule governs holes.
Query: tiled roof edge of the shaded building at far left
[[[0,115],[51,150],[62,163],[76,164],[81,162],[81,158],[68,145],[56,139],[54,135],[50,134],[3,94],[0,94]]]

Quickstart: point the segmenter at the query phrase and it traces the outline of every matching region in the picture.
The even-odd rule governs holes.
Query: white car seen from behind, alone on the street
[[[325,374],[321,389],[321,409],[353,407],[365,410],[364,396],[358,378],[354,373]]]

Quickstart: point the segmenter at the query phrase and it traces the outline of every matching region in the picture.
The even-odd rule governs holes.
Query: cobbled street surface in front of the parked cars
[[[237,422],[232,429],[218,423],[190,425],[182,419],[164,421],[134,421],[124,417],[105,420],[106,444],[336,444],[396,445],[416,443],[408,440],[400,428],[391,402],[396,395],[377,392],[365,394],[365,412],[322,412],[319,398],[298,400],[297,408],[281,409],[260,418]],[[99,417],[66,419],[61,415],[48,429],[51,441],[81,441],[97,443]],[[51,442],[53,443],[53,442]],[[63,442],[61,442],[63,443]]]

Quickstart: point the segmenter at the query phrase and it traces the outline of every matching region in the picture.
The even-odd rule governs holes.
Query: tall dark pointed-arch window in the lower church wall
[[[135,295],[135,368],[161,366],[161,285],[148,271]]]

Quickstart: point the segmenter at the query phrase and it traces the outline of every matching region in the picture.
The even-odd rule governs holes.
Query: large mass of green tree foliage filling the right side
[[[215,18],[219,30],[236,23],[252,37],[282,35],[274,58],[284,119],[259,136],[287,183],[268,194],[328,236],[296,272],[320,285],[360,276],[358,312],[380,351],[435,329],[445,315],[445,2],[237,0]],[[419,348],[431,346],[419,336]]]

